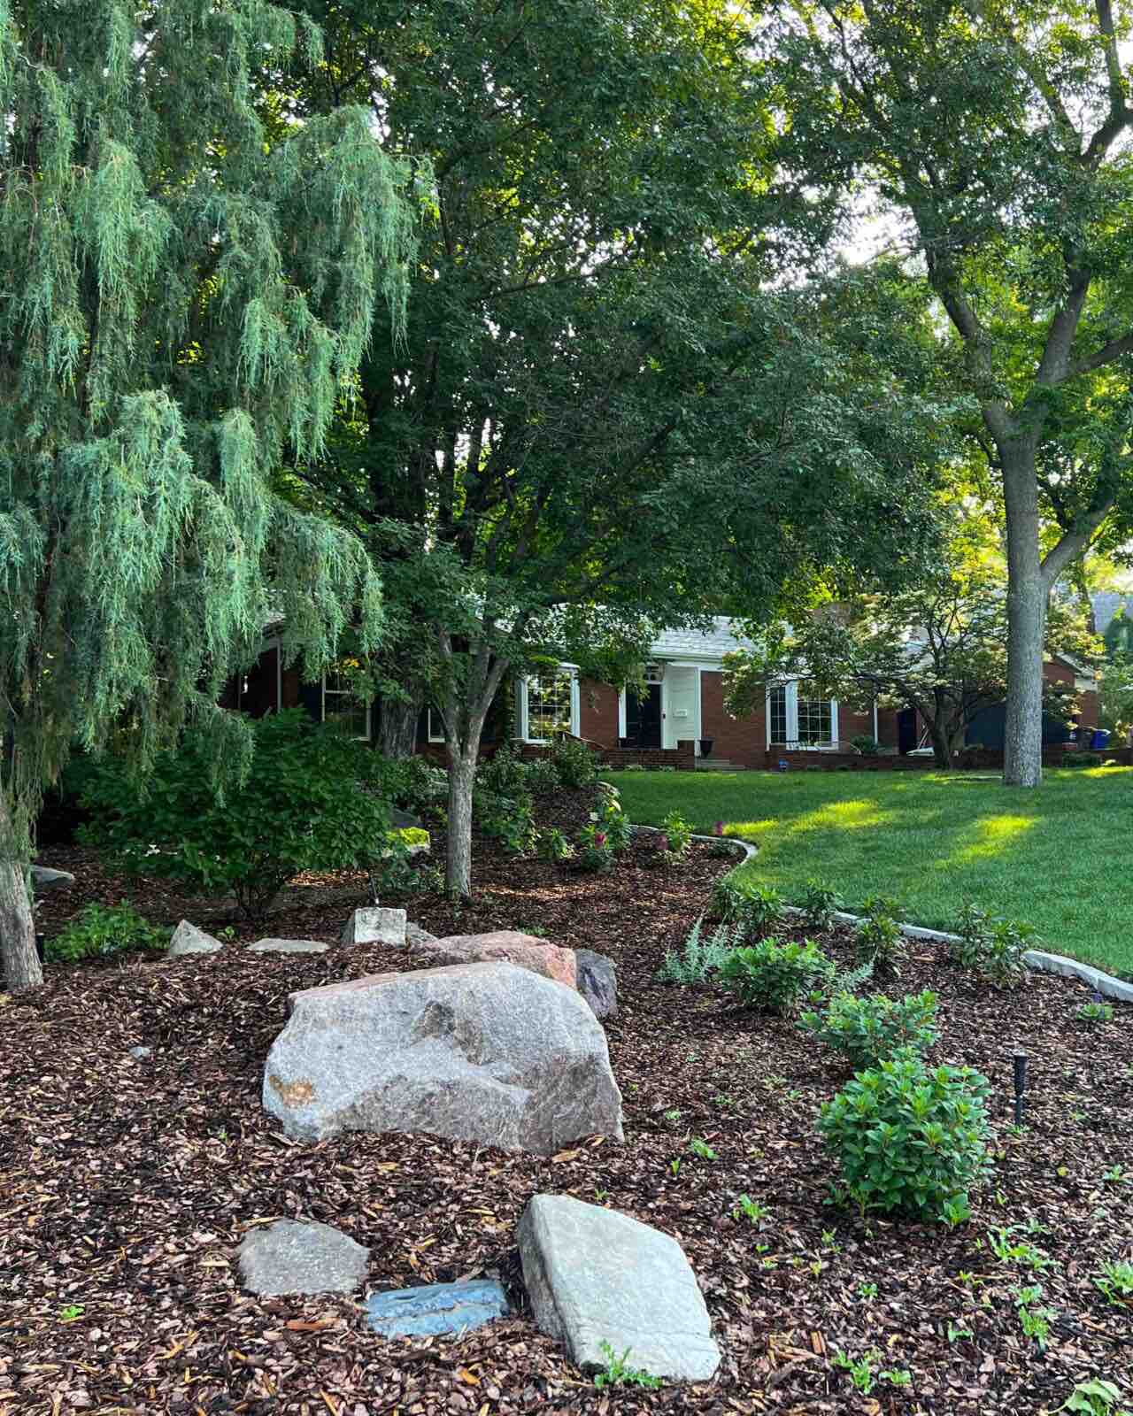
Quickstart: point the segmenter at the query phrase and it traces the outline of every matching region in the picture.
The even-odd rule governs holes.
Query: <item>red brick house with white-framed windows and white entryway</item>
[[[644,695],[582,677],[572,666],[541,671],[506,684],[484,728],[484,748],[491,750],[510,738],[523,750],[538,755],[554,732],[569,732],[600,749],[612,765],[640,762],[650,766],[693,767],[731,763],[736,767],[834,766],[860,762],[851,741],[871,736],[881,743],[884,766],[925,763],[923,725],[909,711],[874,705],[851,712],[833,698],[814,698],[802,683],[778,685],[762,708],[732,718],[724,708],[724,656],[744,640],[731,623],[718,619],[711,630],[666,630],[650,650]],[[1081,728],[1098,721],[1096,681],[1091,670],[1055,658],[1048,677],[1078,687]],[[375,712],[351,698],[334,674],[317,684],[300,681],[296,668],[283,668],[278,639],[268,639],[255,667],[229,684],[225,707],[258,716],[273,708],[303,705],[316,721],[337,721],[357,738],[372,739]],[[1069,739],[1064,725],[1049,721],[1044,741],[1055,752]],[[972,725],[969,743],[993,752],[1003,745],[1003,708],[990,708]],[[443,755],[445,735],[431,709],[418,722],[418,750]]]

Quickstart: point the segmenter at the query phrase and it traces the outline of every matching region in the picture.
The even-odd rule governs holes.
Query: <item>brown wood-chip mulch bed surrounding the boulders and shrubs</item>
[[[572,823],[586,807],[558,804]],[[1098,1376],[1133,1405],[1133,1306],[1092,1283],[1103,1260],[1133,1260],[1133,1010],[1086,1029],[1074,1014],[1088,994],[1072,981],[1037,976],[997,994],[913,944],[901,987],[940,997],[933,1058],[993,1082],[996,1175],[956,1231],[864,1223],[826,1204],[833,1171],[813,1126],[846,1080],[840,1062],[715,988],[654,981],[728,862],[697,847],[656,869],[653,850],[640,840],[613,874],[578,875],[479,843],[472,902],[404,901],[435,933],[524,929],[613,956],[620,1012],[606,1031],[623,1146],[583,1141],[540,1160],[423,1136],[283,1137],[259,1092],[287,993],[405,967],[389,949],[50,966],[42,991],[0,1007],[0,1412],[983,1416],[1052,1412]],[[79,877],[44,899],[48,933],[88,899],[169,920],[201,903],[116,879],[81,851],[41,860]],[[237,932],[333,943],[350,906],[329,905],[327,891],[350,889],[364,902],[358,878],[304,881],[309,903]],[[824,944],[848,957],[846,939]],[[129,1055],[139,1044],[150,1059]],[[1030,1107],[1017,1134],[1018,1049]],[[694,1155],[694,1137],[717,1158]],[[535,1331],[514,1229],[537,1191],[680,1239],[724,1348],[712,1382],[598,1391]],[[734,1218],[741,1194],[768,1208],[761,1225]],[[389,1342],[347,1298],[252,1298],[232,1250],[249,1225],[280,1216],[368,1245],[375,1287],[499,1274],[518,1313],[460,1341]],[[1004,1225],[1030,1225],[1014,1238],[1052,1266],[1032,1274],[997,1259],[989,1231]],[[1045,1352],[1014,1300],[1032,1283],[1055,1310]],[[909,1383],[875,1376],[857,1391],[833,1358],[871,1348],[875,1368],[908,1371]]]

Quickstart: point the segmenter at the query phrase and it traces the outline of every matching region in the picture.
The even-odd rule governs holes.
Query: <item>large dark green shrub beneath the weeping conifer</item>
[[[299,871],[368,869],[394,850],[380,796],[388,763],[370,748],[302,709],[251,729],[251,769],[222,797],[205,731],[160,753],[144,790],[115,763],[101,765],[84,797],[93,817],[82,840],[135,874],[231,892],[249,918]]]

